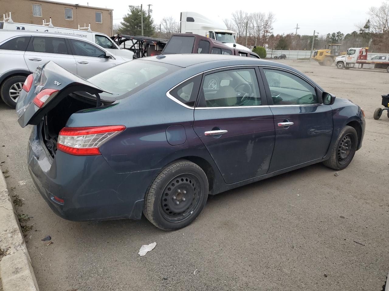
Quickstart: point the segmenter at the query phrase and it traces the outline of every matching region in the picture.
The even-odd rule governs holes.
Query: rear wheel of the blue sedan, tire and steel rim
[[[208,179],[202,168],[178,161],[154,179],[145,195],[143,213],[159,229],[181,229],[195,220],[207,198]]]

